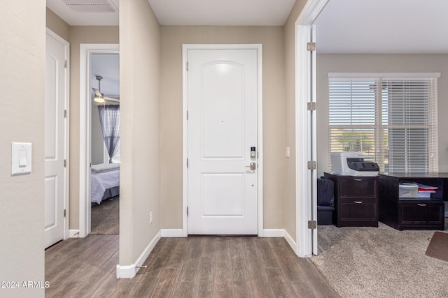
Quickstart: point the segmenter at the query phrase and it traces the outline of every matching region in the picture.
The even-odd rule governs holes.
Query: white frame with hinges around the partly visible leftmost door
[[[66,160],[66,166],[64,167],[64,240],[70,237],[69,232],[69,217],[70,217],[70,202],[69,202],[69,189],[70,189],[70,43],[57,35],[51,29],[45,27],[45,33],[52,38],[55,38],[59,43],[64,45],[66,68],[65,68],[65,95],[64,105],[66,110],[65,127],[64,127],[64,159]]]

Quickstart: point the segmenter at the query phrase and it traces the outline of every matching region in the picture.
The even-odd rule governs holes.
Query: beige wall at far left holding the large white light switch
[[[45,281],[43,247],[45,1],[0,9],[0,281]],[[31,174],[11,176],[11,142],[31,142]],[[44,297],[43,288],[0,288]]]

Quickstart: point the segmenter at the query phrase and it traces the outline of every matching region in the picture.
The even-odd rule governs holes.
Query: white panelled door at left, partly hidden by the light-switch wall
[[[67,45],[46,35],[45,56],[45,248],[64,239],[66,195],[66,60]]]

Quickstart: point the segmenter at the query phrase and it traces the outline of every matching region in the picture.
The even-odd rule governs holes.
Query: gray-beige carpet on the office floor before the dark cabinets
[[[425,255],[434,232],[319,225],[311,261],[342,297],[448,297],[448,262]]]

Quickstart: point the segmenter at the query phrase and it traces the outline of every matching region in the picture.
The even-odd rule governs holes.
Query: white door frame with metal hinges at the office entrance
[[[312,26],[328,0],[308,0],[295,22],[295,253],[300,257],[317,254],[317,229],[308,228],[308,221],[317,221],[316,170],[308,170],[307,162],[316,158],[316,117],[310,117],[307,103],[316,96],[307,43]],[[314,42],[316,40],[313,40]],[[314,123],[313,123],[314,122]],[[314,126],[314,130],[313,130]],[[315,160],[314,160],[315,161]]]

